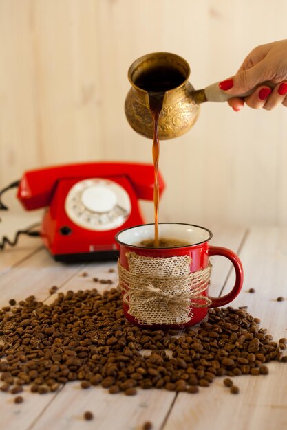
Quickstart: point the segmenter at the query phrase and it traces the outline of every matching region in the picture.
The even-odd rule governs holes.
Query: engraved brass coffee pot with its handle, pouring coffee
[[[128,71],[131,89],[125,100],[125,115],[131,128],[140,135],[153,137],[149,94],[163,95],[158,121],[160,139],[172,139],[189,131],[198,119],[201,103],[225,102],[234,97],[224,93],[218,82],[195,91],[188,81],[189,75],[187,61],[169,52],[154,52],[134,61]],[[238,97],[246,97],[250,93],[252,91]]]

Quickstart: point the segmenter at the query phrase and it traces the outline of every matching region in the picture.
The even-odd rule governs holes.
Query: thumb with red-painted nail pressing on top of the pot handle
[[[264,80],[268,80],[266,69],[262,63],[258,63],[250,69],[241,70],[235,76],[220,82],[219,86],[228,94],[239,95],[253,89]]]

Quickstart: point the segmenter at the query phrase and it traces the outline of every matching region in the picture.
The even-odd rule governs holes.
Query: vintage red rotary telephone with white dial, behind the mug
[[[56,166],[25,172],[17,197],[26,210],[47,207],[41,237],[55,260],[107,260],[118,255],[116,232],[144,223],[138,199],[153,200],[153,179],[151,164]]]

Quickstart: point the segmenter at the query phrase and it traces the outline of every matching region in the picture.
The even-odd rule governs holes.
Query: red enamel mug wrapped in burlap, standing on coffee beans
[[[138,245],[154,238],[154,224],[129,227],[116,234],[123,312],[128,321],[137,326],[180,329],[198,324],[209,308],[235,299],[243,283],[242,263],[230,249],[209,245],[209,229],[183,223],[159,223],[158,229],[159,238],[182,240],[187,245]],[[235,284],[222,297],[209,296],[211,256],[228,258],[235,269]]]

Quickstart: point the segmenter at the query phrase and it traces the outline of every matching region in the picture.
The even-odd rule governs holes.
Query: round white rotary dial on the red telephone
[[[92,231],[107,231],[123,225],[131,214],[125,188],[109,179],[84,179],[72,186],[65,211],[76,225]]]

